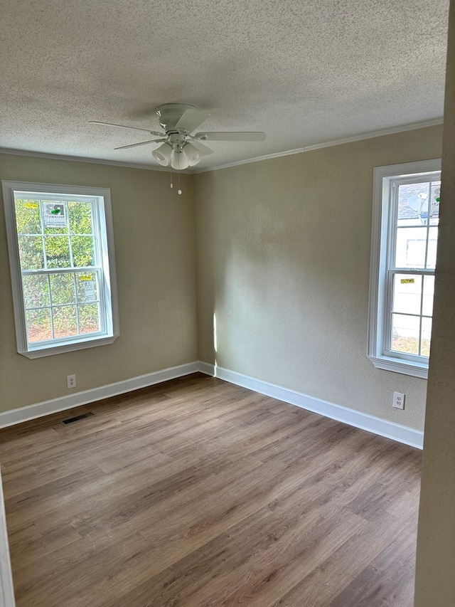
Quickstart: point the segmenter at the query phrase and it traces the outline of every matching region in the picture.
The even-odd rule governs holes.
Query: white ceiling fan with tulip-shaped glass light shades
[[[151,152],[151,155],[161,166],[168,167],[170,164],[177,171],[194,167],[204,156],[213,154],[213,149],[201,143],[203,141],[259,142],[265,139],[265,133],[259,131],[198,132],[191,134],[208,119],[210,114],[185,103],[165,103],[156,107],[155,112],[159,116],[159,124],[164,132],[127,127],[125,125],[112,125],[109,122],[97,122],[96,120],[90,120],[90,124],[133,129],[156,135],[159,137],[158,139],[122,145],[115,149],[127,149],[129,147],[138,147],[139,145],[161,143],[157,149]]]

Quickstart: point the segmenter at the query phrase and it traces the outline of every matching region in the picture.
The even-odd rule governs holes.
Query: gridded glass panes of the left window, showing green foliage
[[[28,347],[105,334],[96,203],[90,196],[14,192]]]

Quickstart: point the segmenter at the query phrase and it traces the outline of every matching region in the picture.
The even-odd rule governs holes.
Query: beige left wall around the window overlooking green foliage
[[[0,154],[0,179],[108,187],[112,194],[120,337],[109,346],[29,360],[16,352],[3,203],[0,209],[0,411],[197,359],[191,176]]]

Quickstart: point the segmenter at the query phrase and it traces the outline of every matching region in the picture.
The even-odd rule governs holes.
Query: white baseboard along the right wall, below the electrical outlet
[[[349,426],[355,426],[355,428],[361,428],[362,430],[373,432],[373,434],[392,438],[392,440],[397,440],[398,443],[423,449],[424,433],[414,430],[414,428],[401,426],[399,423],[370,416],[367,413],[361,413],[360,411],[329,403],[328,401],[322,401],[320,398],[314,398],[314,396],[306,396],[306,394],[301,394],[301,392],[275,386],[274,384],[269,384],[267,381],[255,379],[254,377],[230,371],[229,369],[223,369],[220,366],[206,362],[199,363],[199,371],[206,375],[229,381],[230,384],[278,398],[280,401],[296,405],[307,411],[314,411],[314,413],[319,413],[336,421],[342,421]]]

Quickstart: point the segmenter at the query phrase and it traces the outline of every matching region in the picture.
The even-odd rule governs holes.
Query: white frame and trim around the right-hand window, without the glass
[[[393,164],[376,167],[373,176],[373,219],[370,258],[370,292],[368,305],[368,358],[377,369],[395,371],[405,375],[428,377],[428,359],[406,354],[393,354],[385,349],[385,335],[389,326],[387,287],[389,251],[394,225],[391,217],[392,196],[390,184],[403,176],[441,171],[441,159]]]

